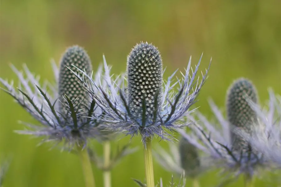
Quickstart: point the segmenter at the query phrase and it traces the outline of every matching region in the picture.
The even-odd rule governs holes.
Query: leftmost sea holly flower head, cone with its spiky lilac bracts
[[[31,129],[17,131],[18,133],[43,136],[45,137],[43,142],[65,140],[64,143],[68,144],[70,148],[75,143],[86,145],[87,138],[97,137],[100,134],[96,127],[98,121],[91,120],[89,116],[94,115],[98,119],[101,110],[95,102],[89,101],[88,95],[76,77],[71,74],[68,67],[73,68],[72,64],[84,68],[87,73],[92,72],[91,61],[84,49],[72,46],[64,53],[60,69],[53,63],[56,78],[54,86],[49,83],[40,86],[39,80],[25,65],[25,75],[12,66],[20,81],[17,89],[13,87],[13,82],[9,84],[0,79],[6,87],[5,91],[43,125],[26,124]],[[101,68],[98,74],[100,73]],[[88,118],[83,116],[88,116]]]

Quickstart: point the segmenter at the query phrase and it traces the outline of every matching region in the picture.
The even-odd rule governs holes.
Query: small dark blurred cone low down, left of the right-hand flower
[[[180,164],[188,177],[195,178],[200,167],[200,159],[197,148],[184,137],[179,144]]]

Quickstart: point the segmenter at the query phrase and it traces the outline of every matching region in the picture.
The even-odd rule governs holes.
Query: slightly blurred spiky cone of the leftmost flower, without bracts
[[[68,105],[67,100],[64,98],[65,95],[68,96],[70,100],[72,100],[73,105],[76,110],[80,113],[83,113],[84,106],[88,104],[88,94],[83,90],[83,87],[76,79],[72,71],[78,73],[76,67],[81,70],[85,70],[87,74],[92,73],[92,65],[91,60],[86,53],[86,51],[80,46],[72,46],[69,47],[64,55],[62,56],[60,62],[60,75],[59,75],[59,96],[61,104],[61,110],[63,113],[67,112],[68,108],[65,106]]]

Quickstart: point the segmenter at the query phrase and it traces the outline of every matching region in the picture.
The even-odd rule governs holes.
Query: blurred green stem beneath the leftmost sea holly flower
[[[95,180],[87,148],[78,147],[78,154],[83,168],[85,187],[95,187]]]

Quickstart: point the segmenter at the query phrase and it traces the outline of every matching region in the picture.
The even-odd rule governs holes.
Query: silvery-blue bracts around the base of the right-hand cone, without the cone
[[[259,167],[270,168],[271,161],[266,159],[262,152],[233,150],[230,129],[235,127],[231,127],[225,120],[213,101],[210,100],[209,103],[215,116],[212,122],[197,112],[195,117],[188,115],[188,120],[195,122],[189,126],[192,132],[186,133],[182,129],[179,130],[182,136],[205,153],[202,158],[205,160],[203,165],[221,168],[223,172],[228,171],[231,175],[233,173],[234,177],[240,174],[253,176]]]

